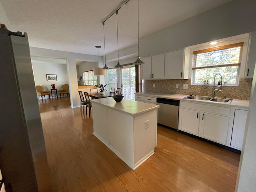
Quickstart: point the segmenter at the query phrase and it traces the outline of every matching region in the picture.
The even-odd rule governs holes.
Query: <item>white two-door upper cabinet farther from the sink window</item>
[[[164,79],[164,54],[142,58],[142,79]]]

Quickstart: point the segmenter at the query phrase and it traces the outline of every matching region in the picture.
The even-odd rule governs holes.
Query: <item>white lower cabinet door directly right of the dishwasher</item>
[[[198,135],[199,120],[200,111],[180,108],[178,130]]]

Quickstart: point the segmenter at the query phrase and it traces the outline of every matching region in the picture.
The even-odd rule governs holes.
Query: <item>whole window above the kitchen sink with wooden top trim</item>
[[[214,76],[222,75],[222,82],[238,85],[243,42],[193,52],[192,84],[213,84]],[[218,80],[217,80],[218,81]]]

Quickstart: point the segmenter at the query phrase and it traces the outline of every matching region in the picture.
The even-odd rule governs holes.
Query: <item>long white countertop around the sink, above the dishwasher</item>
[[[166,98],[166,99],[176,99],[180,101],[185,102],[195,102],[195,103],[201,103],[201,104],[209,104],[214,106],[223,106],[223,107],[237,107],[237,108],[244,108],[248,109],[249,107],[249,100],[239,100],[239,99],[233,99],[230,104],[227,103],[220,103],[220,102],[212,102],[212,101],[204,101],[204,100],[192,100],[192,99],[184,99],[184,97],[188,95],[179,95],[179,94],[165,94],[165,93],[154,93],[154,92],[139,92],[135,93],[135,95],[140,96],[148,96],[148,97],[154,97],[154,98]],[[232,99],[232,98],[231,98]]]

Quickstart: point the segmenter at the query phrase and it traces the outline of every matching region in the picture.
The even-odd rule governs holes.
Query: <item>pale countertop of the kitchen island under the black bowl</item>
[[[111,108],[113,110],[128,114],[130,116],[136,116],[150,110],[159,108],[159,105],[131,101],[126,99],[122,99],[121,102],[116,102],[112,97],[93,99],[90,101],[92,102],[92,104],[97,103],[107,108]]]

